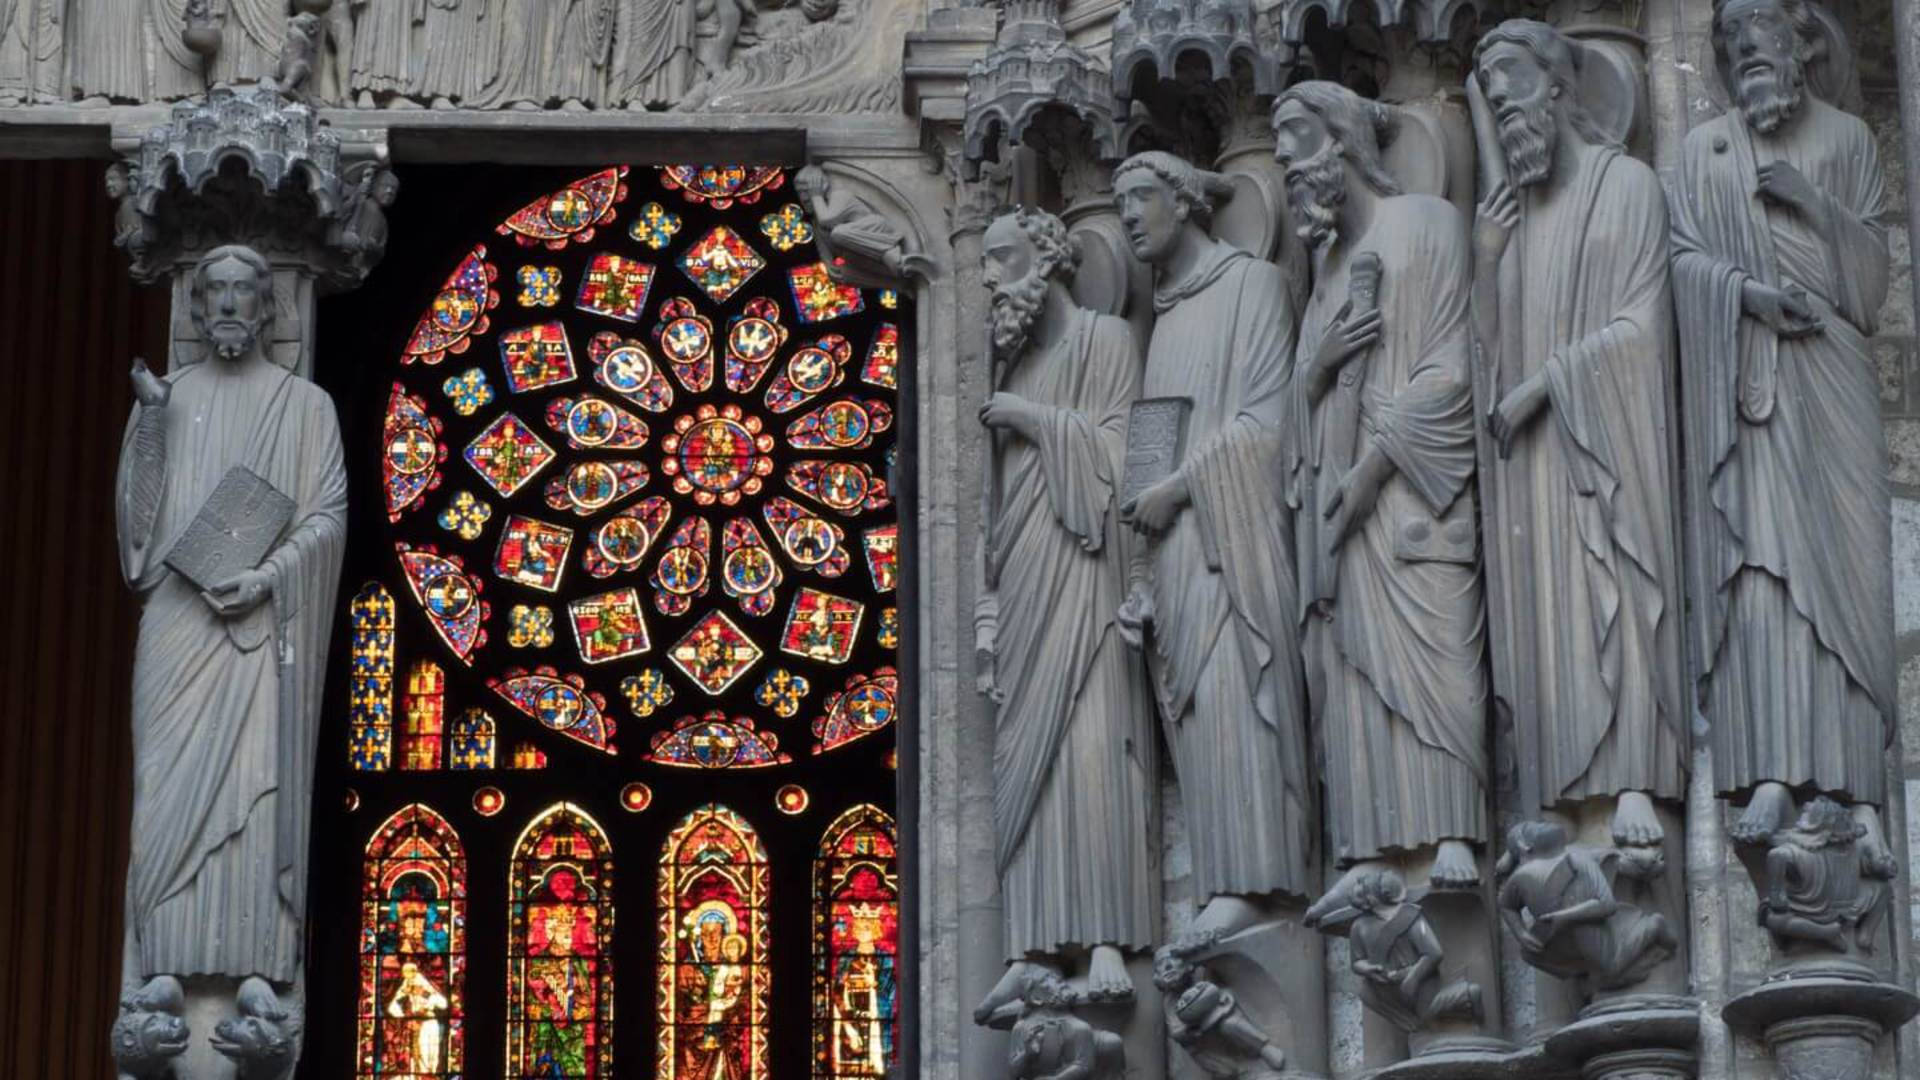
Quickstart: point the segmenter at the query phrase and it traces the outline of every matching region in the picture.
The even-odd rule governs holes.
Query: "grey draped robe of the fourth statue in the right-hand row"
[[[1620,792],[1676,799],[1686,713],[1665,196],[1640,161],[1586,144],[1571,177],[1519,196],[1498,369],[1476,411],[1540,371],[1548,405],[1509,457],[1482,457],[1494,694],[1544,807]]]

